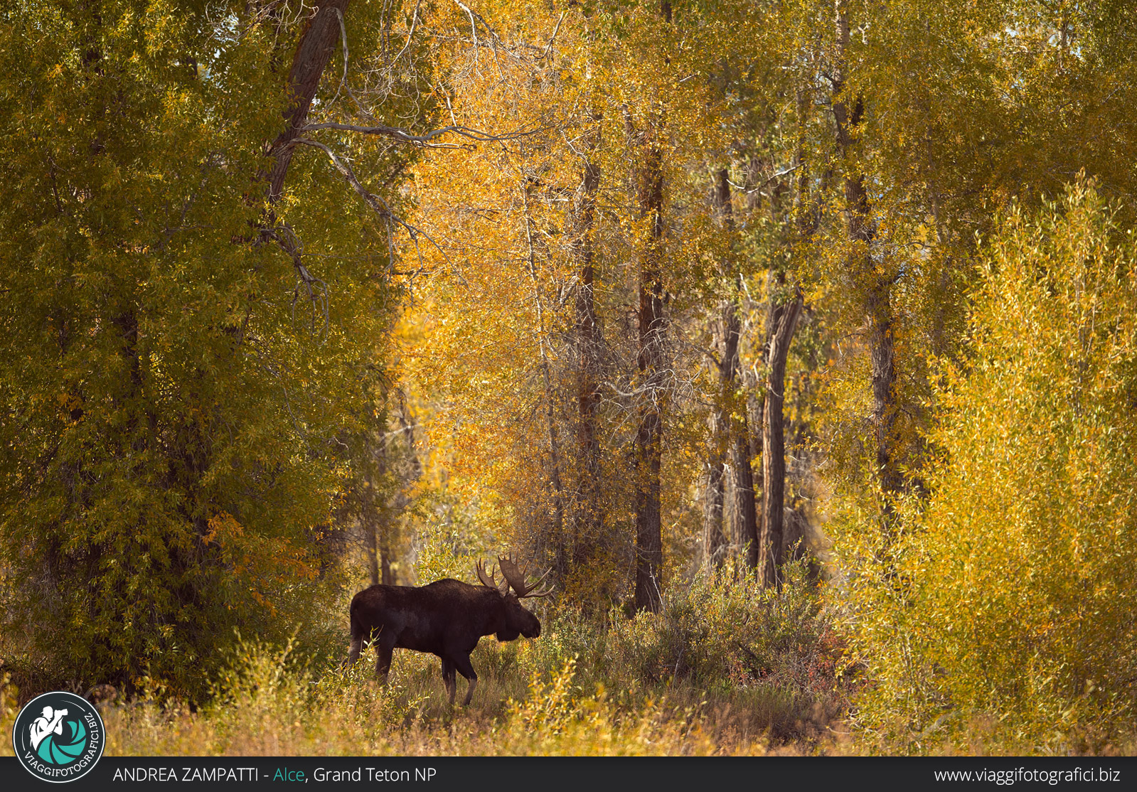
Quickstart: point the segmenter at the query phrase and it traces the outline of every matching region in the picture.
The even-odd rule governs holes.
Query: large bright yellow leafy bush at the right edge
[[[945,367],[930,502],[910,505],[894,568],[854,567],[861,717],[910,750],[982,719],[1013,751],[1131,733],[1137,281],[1110,217],[1078,185],[1005,222],[970,365]]]

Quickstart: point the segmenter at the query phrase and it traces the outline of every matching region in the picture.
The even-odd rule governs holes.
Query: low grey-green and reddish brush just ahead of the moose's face
[[[558,610],[521,651],[522,668],[549,678],[574,664],[584,689],[736,708],[779,741],[816,736],[847,703],[843,644],[800,565],[780,592],[725,569],[670,586],[658,614]]]

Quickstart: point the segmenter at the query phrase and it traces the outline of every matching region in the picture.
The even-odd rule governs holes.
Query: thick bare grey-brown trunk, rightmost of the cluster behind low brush
[[[766,405],[762,411],[762,585],[781,583],[783,511],[786,492],[786,358],[802,312],[800,290],[789,305],[771,310],[770,345],[766,351]]]

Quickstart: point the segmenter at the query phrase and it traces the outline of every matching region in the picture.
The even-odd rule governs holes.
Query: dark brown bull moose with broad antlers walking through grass
[[[348,662],[359,659],[365,643],[373,643],[377,659],[375,675],[384,683],[396,648],[430,652],[442,659],[442,682],[454,706],[458,689],[455,670],[466,677],[470,705],[478,674],[470,665],[470,653],[483,635],[513,641],[518,635],[537,637],[541,623],[521,605],[524,598],[548,597],[551,586],[538,591],[546,572],[532,584],[513,557],[498,556],[504,578],[487,574],[482,561],[474,565],[481,585],[447,577],[424,586],[373,585],[351,598],[351,648]],[[511,593],[509,589],[513,589]]]

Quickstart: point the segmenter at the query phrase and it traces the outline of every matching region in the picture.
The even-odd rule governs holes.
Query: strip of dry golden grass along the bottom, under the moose
[[[556,645],[556,634],[550,635]],[[435,658],[399,650],[389,684],[371,664],[341,668],[297,659],[291,648],[246,644],[191,709],[160,693],[101,705],[107,752],[118,756],[1022,756],[991,718],[972,716],[910,733],[903,743],[853,733],[835,715],[840,697],[800,695],[750,681],[699,689],[689,682],[598,682],[573,659],[546,670],[539,642],[484,642],[474,653],[480,682],[470,707],[450,707]],[[554,652],[555,653],[555,652]],[[7,683],[7,680],[2,682]],[[459,695],[464,694],[459,680]],[[17,691],[0,684],[0,730],[10,731]],[[808,699],[806,699],[808,701]],[[1090,730],[1092,731],[1092,730]],[[1045,751],[1043,751],[1045,752]],[[1127,756],[1137,735],[1102,743],[1071,735],[1068,752]],[[10,744],[0,743],[10,755]]]

